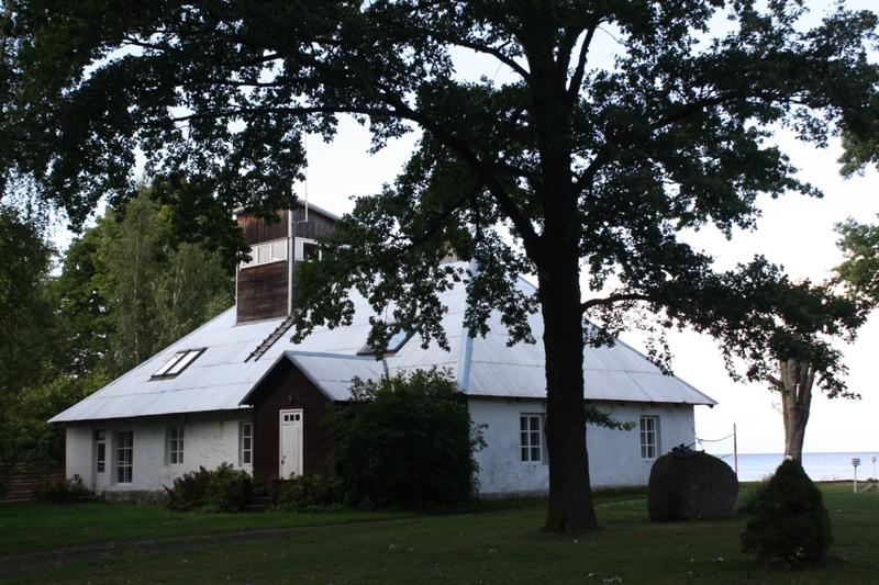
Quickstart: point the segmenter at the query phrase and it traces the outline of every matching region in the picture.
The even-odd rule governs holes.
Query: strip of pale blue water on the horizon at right
[[[714,454],[734,468],[732,454]],[[803,453],[803,469],[814,482],[834,482],[854,480],[855,468],[853,458],[860,459],[857,479],[869,480],[876,477],[876,468],[870,461],[871,457],[879,459],[879,451],[860,453]],[[785,460],[780,453],[738,453],[738,481],[756,482],[770,475]],[[734,468],[735,469],[735,468]]]

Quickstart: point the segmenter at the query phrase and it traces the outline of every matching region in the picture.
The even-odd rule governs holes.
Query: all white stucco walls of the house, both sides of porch
[[[483,435],[487,448],[476,453],[479,463],[480,492],[483,495],[541,494],[549,488],[546,441],[543,439],[542,461],[523,462],[521,458],[520,416],[545,415],[545,401],[470,396],[470,416],[478,425],[486,425]],[[638,421],[642,416],[657,417],[658,445],[661,455],[680,443],[693,442],[693,407],[645,403],[619,404],[596,402],[594,406],[621,421]],[[231,463],[236,469],[253,473],[252,465],[240,461],[240,424],[252,420],[249,409],[218,412],[169,417],[145,417],[127,420],[68,424],[67,475],[78,474],[85,484],[96,488],[94,430],[105,429],[107,486],[105,495],[114,493],[164,492],[175,477],[200,465],[215,469]],[[168,429],[183,426],[183,463],[168,461]],[[134,434],[133,480],[119,484],[115,480],[115,438],[119,431]],[[620,487],[646,485],[655,459],[642,459],[638,429],[612,430],[589,426],[587,428],[589,470],[592,487]]]

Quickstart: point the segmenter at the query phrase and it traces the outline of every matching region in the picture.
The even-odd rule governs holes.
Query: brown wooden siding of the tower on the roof
[[[291,217],[292,213],[292,217]],[[286,317],[292,312],[291,300],[296,290],[296,239],[314,240],[329,236],[335,221],[315,209],[310,209],[308,222],[304,207],[292,212],[278,212],[278,221],[266,223],[253,213],[240,213],[237,223],[244,239],[254,250],[263,243],[286,240],[287,259],[238,267],[237,270],[237,322]],[[290,286],[293,291],[290,291]]]

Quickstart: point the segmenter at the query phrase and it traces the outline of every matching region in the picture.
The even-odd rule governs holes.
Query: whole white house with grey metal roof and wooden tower
[[[311,207],[281,213],[266,226],[240,216],[254,260],[238,269],[237,305],[60,413],[67,428],[67,474],[108,499],[149,499],[199,466],[231,463],[257,477],[326,473],[326,437],[318,425],[330,403],[349,397],[353,376],[377,379],[416,368],[445,368],[467,396],[470,416],[486,425],[477,453],[486,496],[548,490],[543,436],[546,380],[543,324],[531,318],[537,344],[507,347],[499,316],[487,337],[464,327],[463,284],[442,295],[449,351],[418,336],[401,337],[382,361],[364,351],[371,310],[354,296],[351,326],[320,328],[292,344],[288,315],[296,267],[319,257],[314,237],[335,217]],[[533,285],[520,281],[523,289]],[[587,431],[594,487],[646,485],[660,454],[693,442],[693,409],[715,404],[664,375],[625,344],[583,348],[586,400],[633,431]]]

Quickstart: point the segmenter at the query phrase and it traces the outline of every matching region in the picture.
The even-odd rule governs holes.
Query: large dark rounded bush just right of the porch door
[[[481,429],[455,382],[435,369],[378,382],[355,379],[352,400],[334,406],[322,425],[347,505],[423,509],[464,504],[476,494]]]

